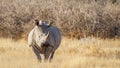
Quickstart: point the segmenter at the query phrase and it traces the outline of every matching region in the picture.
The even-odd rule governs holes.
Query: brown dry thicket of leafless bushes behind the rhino
[[[0,0],[0,37],[26,38],[35,19],[78,39],[120,37],[120,0]]]

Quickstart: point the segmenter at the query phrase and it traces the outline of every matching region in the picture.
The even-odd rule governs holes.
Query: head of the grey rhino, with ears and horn
[[[52,25],[52,23],[47,23],[39,20],[35,20],[35,41],[37,45],[40,47],[47,42],[49,37],[49,30],[48,28]]]

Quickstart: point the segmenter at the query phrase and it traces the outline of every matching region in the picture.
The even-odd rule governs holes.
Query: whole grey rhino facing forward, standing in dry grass
[[[40,54],[44,54],[45,60],[50,61],[61,43],[60,31],[51,24],[36,20],[35,27],[28,35],[28,44],[39,61],[41,61]]]

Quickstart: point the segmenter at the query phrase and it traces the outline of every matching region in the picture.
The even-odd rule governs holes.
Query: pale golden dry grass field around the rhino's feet
[[[39,63],[24,40],[0,39],[1,68],[119,68],[120,39],[63,38],[51,63]]]

